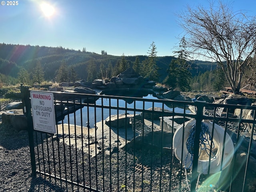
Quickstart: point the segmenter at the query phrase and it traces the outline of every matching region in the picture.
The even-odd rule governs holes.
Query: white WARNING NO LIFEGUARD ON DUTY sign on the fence
[[[31,91],[34,130],[56,134],[53,93]]]

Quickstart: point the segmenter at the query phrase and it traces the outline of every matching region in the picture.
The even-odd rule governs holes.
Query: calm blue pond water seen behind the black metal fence
[[[152,94],[148,94],[148,96],[143,96],[143,98],[148,98],[148,99],[157,99],[156,97],[152,96]],[[127,102],[127,108],[134,108],[134,101],[126,101]],[[126,107],[125,104],[126,102],[121,99],[109,99],[108,98],[99,98],[96,101],[96,105],[102,105],[103,106],[111,106],[111,107]],[[162,108],[162,103],[161,102],[154,102],[154,107],[159,107]],[[144,109],[152,108],[152,102],[144,102]],[[136,109],[143,109],[143,102],[142,101],[135,101],[135,108]],[[164,104],[164,109],[172,111],[172,108],[169,108]],[[82,110],[82,116],[81,116],[81,110]],[[65,116],[63,122],[64,123],[69,123],[70,124],[75,124],[79,126],[86,126],[86,122],[90,122],[90,127],[94,127],[94,124],[96,122],[100,122],[101,120],[105,120],[108,118],[109,114],[111,115],[116,115],[116,114],[134,114],[134,111],[129,111],[129,110],[116,110],[116,109],[109,109],[109,108],[94,108],[94,107],[84,107],[81,110],[77,110],[75,113],[69,114],[68,116]],[[178,113],[183,113],[184,109],[182,108],[174,108],[175,112]],[[186,110],[186,113],[189,113],[189,110]],[[140,112],[135,112],[136,114],[140,114]],[[95,115],[96,114],[96,115]],[[82,122],[81,122],[82,119]]]

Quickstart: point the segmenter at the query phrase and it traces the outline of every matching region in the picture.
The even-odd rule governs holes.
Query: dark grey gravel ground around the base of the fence
[[[9,101],[10,102],[10,101]],[[5,105],[1,103],[1,107]],[[69,192],[69,191],[83,191],[77,186],[66,184],[58,180],[48,178],[47,176],[36,177],[31,176],[30,165],[30,151],[28,143],[28,132],[16,132],[12,126],[2,124],[0,122],[0,192]],[[40,141],[41,135],[36,136]],[[170,172],[170,152],[160,155],[159,151],[151,152],[148,149],[119,149],[114,150],[110,155],[101,151],[97,158],[89,158],[88,154],[84,154],[82,150],[75,150],[73,146],[59,142],[66,135],[57,135],[53,137],[44,137],[42,139],[47,142],[41,144],[39,142],[39,156],[40,168],[44,169],[42,162],[42,151],[44,151],[45,158],[48,156],[48,161],[45,170],[53,171],[56,168],[57,172],[62,173],[62,178],[66,177],[71,180],[71,171],[73,180],[87,186],[98,188],[108,192],[114,191],[169,191],[169,178],[172,178],[172,192],[182,191],[188,192],[184,170],[182,169],[182,178],[180,183],[180,164],[174,159],[173,170]],[[78,138],[81,138],[79,135]],[[63,139],[64,140],[64,139]],[[60,144],[60,154],[54,162],[52,156],[56,152],[56,146]],[[101,145],[101,143],[99,143]],[[50,149],[50,150],[48,150]],[[51,150],[52,149],[52,150]],[[117,149],[117,148],[116,148]],[[117,153],[118,151],[118,153]],[[36,152],[37,153],[37,152]],[[55,154],[56,155],[56,154]],[[62,159],[66,157],[66,162]],[[161,159],[162,158],[162,162]],[[125,161],[125,159],[127,161]],[[151,163],[151,160],[152,163]],[[118,164],[119,166],[118,166]],[[134,172],[134,163],[141,163],[146,166],[142,173]],[[90,164],[90,166],[89,166]],[[49,168],[48,168],[48,165]],[[104,174],[102,174],[102,167],[104,165]],[[162,168],[161,168],[162,167]],[[124,174],[126,173],[126,174]],[[103,176],[104,175],[104,176]],[[125,177],[126,175],[126,177]],[[162,175],[162,177],[160,177]],[[188,173],[190,176],[190,173]],[[111,180],[110,180],[111,178]],[[118,178],[118,179],[117,179]],[[202,178],[203,179],[203,178]],[[95,185],[97,183],[97,186]],[[104,186],[103,186],[104,183]],[[133,188],[135,190],[133,190]],[[203,190],[209,192],[216,192],[214,188],[210,190]],[[84,190],[87,191],[87,190]],[[198,190],[199,192],[199,190]]]

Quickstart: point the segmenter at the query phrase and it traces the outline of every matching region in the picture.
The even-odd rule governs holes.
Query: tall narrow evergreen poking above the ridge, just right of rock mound
[[[147,74],[146,76],[148,76],[150,78],[150,80],[153,81],[158,81],[160,74],[158,73],[158,70],[160,69],[157,65],[156,65],[156,45],[155,42],[153,41],[152,44],[150,44],[150,50],[148,50],[148,63],[147,63]],[[146,68],[145,68],[146,69]]]

